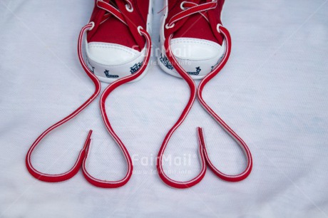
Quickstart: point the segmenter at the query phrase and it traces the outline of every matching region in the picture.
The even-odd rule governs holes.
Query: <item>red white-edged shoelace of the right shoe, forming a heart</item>
[[[176,60],[170,48],[170,41],[173,38],[173,33],[176,31],[176,29],[174,29],[174,26],[178,21],[190,15],[199,13],[201,16],[205,17],[205,19],[208,22],[210,22],[210,18],[207,14],[207,11],[211,9],[215,9],[216,6],[217,6],[217,1],[210,1],[204,4],[195,4],[194,2],[183,1],[181,3],[181,8],[183,8],[184,10],[178,14],[175,14],[175,16],[173,16],[165,25],[167,31],[165,35],[168,36],[165,38],[165,42],[164,42],[166,56],[168,57],[170,63],[172,63],[175,70],[178,71],[180,76],[188,83],[190,88],[190,98],[188,100],[188,103],[185,106],[185,109],[183,110],[183,113],[180,115],[178,121],[175,123],[175,125],[173,125],[173,127],[168,131],[167,135],[165,136],[165,139],[163,140],[163,144],[160,147],[160,151],[158,152],[158,158],[157,158],[157,170],[160,175],[160,178],[163,180],[163,182],[165,182],[165,184],[175,188],[183,189],[183,188],[193,187],[194,185],[198,184],[201,180],[203,180],[203,177],[205,176],[206,164],[210,167],[212,172],[214,172],[215,175],[217,175],[217,177],[220,177],[222,180],[228,182],[238,182],[240,180],[244,180],[248,175],[250,175],[250,172],[252,170],[252,155],[246,143],[210,108],[210,106],[207,105],[207,103],[205,103],[205,100],[203,99],[203,88],[212,78],[214,78],[217,75],[217,73],[221,71],[221,69],[225,66],[225,63],[227,63],[227,60],[230,56],[231,38],[230,38],[229,31],[227,31],[227,29],[224,28],[221,24],[217,24],[217,32],[221,33],[225,39],[224,41],[225,54],[222,57],[220,63],[218,63],[217,66],[213,68],[213,70],[210,73],[208,73],[207,76],[205,76],[205,78],[203,78],[198,88],[196,87],[193,78],[191,78],[189,74],[180,66],[180,64]],[[227,133],[229,133],[229,135],[237,142],[237,144],[245,152],[245,156],[247,157],[247,167],[245,168],[244,172],[238,175],[227,175],[225,173],[220,172],[220,170],[217,170],[217,167],[215,167],[212,164],[212,162],[210,161],[210,157],[207,153],[207,149],[205,147],[205,140],[203,136],[203,129],[198,128],[198,142],[199,142],[199,152],[200,152],[200,162],[201,162],[200,173],[192,180],[186,182],[179,182],[173,180],[170,177],[168,177],[168,175],[165,174],[163,170],[163,155],[165,152],[165,148],[168,146],[170,137],[173,135],[175,130],[177,130],[178,127],[183,123],[183,120],[185,120],[185,118],[187,117],[190,109],[193,106],[196,95],[198,97],[199,102],[201,103],[201,105],[203,105],[203,108],[205,108],[207,113],[209,113],[212,116],[212,118],[214,118],[217,121],[217,123]]]

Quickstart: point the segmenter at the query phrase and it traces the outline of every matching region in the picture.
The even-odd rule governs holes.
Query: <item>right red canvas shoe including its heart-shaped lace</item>
[[[183,114],[166,135],[158,152],[157,168],[160,178],[171,187],[192,187],[203,179],[206,165],[208,165],[222,180],[229,182],[244,180],[252,170],[250,150],[245,142],[205,103],[202,96],[206,83],[220,72],[230,56],[230,33],[222,26],[220,19],[224,0],[164,0],[164,4],[164,16],[160,28],[162,53],[158,56],[158,64],[166,73],[182,77],[188,83],[190,98]],[[193,79],[203,79],[198,88]],[[245,151],[247,167],[240,175],[226,175],[212,164],[205,147],[202,128],[198,128],[202,165],[199,175],[187,182],[178,182],[165,175],[162,166],[165,147],[171,135],[188,115],[196,95],[203,108]]]

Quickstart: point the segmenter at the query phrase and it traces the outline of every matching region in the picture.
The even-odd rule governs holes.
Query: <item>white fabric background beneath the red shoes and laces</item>
[[[154,46],[161,7],[156,0]],[[76,53],[92,9],[93,0],[0,0],[1,217],[328,217],[327,0],[226,1],[222,21],[232,35],[232,55],[204,98],[249,145],[254,167],[247,180],[224,182],[207,170],[199,185],[175,190],[155,174],[155,156],[189,90],[154,63],[143,80],[118,88],[106,104],[135,157],[127,185],[93,187],[81,171],[57,184],[29,175],[24,160],[31,143],[93,93]],[[70,169],[93,129],[91,174],[108,180],[125,174],[98,100],[41,142],[32,158],[38,170]],[[173,157],[191,155],[191,165],[165,165],[177,170],[171,176],[198,174],[197,126],[205,128],[215,165],[241,172],[242,151],[195,103],[167,150]]]

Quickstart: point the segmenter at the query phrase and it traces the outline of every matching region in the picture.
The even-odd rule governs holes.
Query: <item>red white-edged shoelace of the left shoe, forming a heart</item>
[[[127,5],[126,5],[127,9],[133,9],[133,4],[130,1],[128,1],[128,0],[124,0],[124,1],[127,3]],[[109,15],[112,14],[113,16],[116,16],[116,18],[121,20],[123,22],[123,24],[127,25],[125,22],[124,16],[121,14],[121,12],[118,11],[118,9],[116,9],[115,7],[111,6],[111,4],[108,4],[104,1],[97,1],[97,6],[101,9],[107,11]],[[108,19],[108,14],[105,14],[103,16],[102,22],[106,21],[106,19]],[[97,96],[99,95],[99,93],[101,91],[101,83],[99,82],[98,78],[93,74],[93,72],[90,71],[90,69],[84,62],[83,54],[82,54],[82,43],[83,43],[84,35],[87,31],[91,31],[92,28],[94,27],[94,25],[95,24],[93,22],[91,22],[90,24],[87,24],[86,26],[84,26],[81,29],[80,35],[78,37],[78,58],[81,62],[81,66],[83,67],[84,71],[86,71],[86,74],[88,75],[88,77],[91,78],[91,81],[93,81],[93,83],[95,85],[95,91],[94,91],[93,95],[91,95],[91,97],[88,98],[88,100],[86,100],[86,102],[83,103],[78,109],[74,110],[73,113],[68,115],[66,118],[63,118],[63,120],[60,120],[57,123],[51,125],[50,128],[48,128],[41,135],[39,135],[39,137],[35,140],[35,142],[29,148],[29,151],[26,154],[26,167],[27,167],[27,170],[29,170],[29,172],[31,173],[31,175],[36,177],[36,179],[38,179],[38,180],[41,180],[44,182],[62,182],[65,180],[69,180],[71,177],[76,175],[76,173],[82,166],[83,175],[86,177],[86,180],[88,180],[88,182],[90,182],[92,185],[95,185],[97,187],[103,187],[103,188],[115,188],[115,187],[121,187],[121,186],[125,185],[128,182],[128,180],[130,180],[130,177],[132,175],[132,172],[133,172],[132,160],[130,158],[128,150],[126,149],[125,145],[123,144],[121,139],[118,137],[118,135],[116,135],[115,131],[113,130],[113,128],[111,126],[110,121],[108,120],[108,115],[106,114],[105,104],[106,104],[106,98],[108,97],[108,95],[111,92],[113,92],[113,90],[118,88],[118,86],[128,83],[130,81],[133,81],[136,78],[138,78],[139,76],[141,76],[143,74],[143,72],[145,71],[145,68],[148,66],[148,61],[150,59],[150,51],[151,51],[151,40],[150,40],[150,36],[147,33],[147,31],[145,31],[141,26],[138,26],[138,28],[137,27],[135,27],[135,28],[138,29],[138,33],[140,34],[140,36],[143,36],[146,41],[147,50],[146,50],[145,59],[144,59],[142,65],[140,66],[140,68],[138,69],[137,72],[131,74],[130,76],[121,78],[121,79],[111,83],[110,85],[108,85],[108,87],[103,91],[101,98],[100,98],[100,108],[101,108],[101,115],[103,118],[103,122],[106,125],[106,129],[108,130],[108,133],[111,134],[113,139],[116,141],[118,146],[121,148],[123,155],[125,157],[125,160],[127,162],[127,165],[128,165],[128,170],[126,172],[125,177],[123,177],[123,179],[118,180],[118,181],[107,181],[107,180],[98,180],[97,178],[91,176],[90,173],[88,173],[88,171],[86,170],[86,160],[88,157],[88,146],[90,145],[90,142],[91,142],[92,130],[89,131],[88,136],[86,138],[86,142],[83,145],[83,148],[78,155],[76,163],[73,165],[71,170],[68,170],[67,172],[63,172],[63,173],[57,174],[57,175],[50,175],[50,174],[46,174],[46,173],[39,172],[38,170],[36,170],[33,167],[32,162],[31,162],[32,152],[34,151],[36,146],[39,145],[39,142],[41,142],[43,137],[45,137],[48,133],[50,133],[51,130],[58,128],[63,123],[66,123],[68,120],[71,120],[72,118],[76,117],[76,115],[78,115],[78,113],[80,113],[84,108],[86,108],[88,105],[90,105],[93,102],[93,100],[95,100],[97,98]]]

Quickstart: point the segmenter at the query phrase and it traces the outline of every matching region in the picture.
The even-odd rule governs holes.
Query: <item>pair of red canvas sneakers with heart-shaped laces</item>
[[[170,129],[158,152],[157,169],[160,178],[171,187],[186,188],[198,184],[203,179],[206,166],[215,174],[230,182],[245,179],[252,170],[252,157],[245,142],[215,114],[202,97],[204,86],[225,66],[231,51],[230,34],[222,27],[220,14],[224,0],[161,0],[163,17],[160,26],[161,52],[158,64],[173,76],[183,78],[190,87],[190,98],[182,115]],[[46,182],[61,182],[76,175],[82,166],[83,175],[88,182],[98,187],[121,187],[130,179],[133,164],[123,142],[116,135],[106,115],[106,98],[119,85],[137,81],[145,76],[150,60],[151,39],[149,32],[153,21],[153,0],[96,0],[95,8],[88,25],[84,26],[78,38],[78,56],[83,69],[95,84],[95,92],[80,108],[71,115],[52,125],[34,142],[26,155],[26,166],[31,175]],[[86,37],[84,37],[86,35]],[[86,61],[82,56],[82,45],[86,47]],[[203,79],[198,88],[193,79]],[[119,181],[98,180],[86,170],[88,145],[91,133],[76,164],[61,175],[47,175],[36,170],[31,164],[31,153],[42,138],[51,130],[78,115],[100,93],[101,83],[111,85],[101,95],[101,114],[108,133],[121,147],[128,164],[128,172]],[[197,177],[187,182],[170,179],[163,170],[162,157],[171,135],[183,123],[196,96],[210,115],[242,147],[247,157],[247,167],[240,175],[225,175],[212,164],[205,147],[202,128],[198,128],[199,152],[202,169]]]

